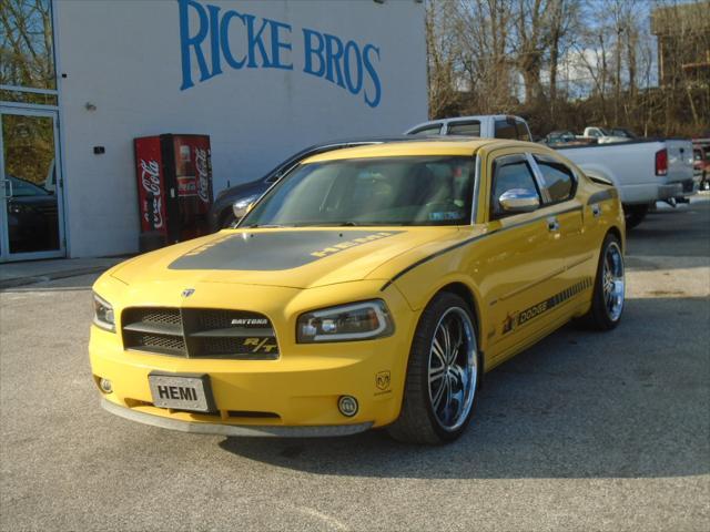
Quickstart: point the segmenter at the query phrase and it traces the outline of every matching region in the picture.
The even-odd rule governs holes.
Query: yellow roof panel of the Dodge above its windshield
[[[384,142],[356,147],[345,147],[334,152],[313,155],[303,161],[303,164],[338,161],[344,158],[369,158],[369,157],[396,157],[407,155],[473,155],[479,149],[487,147],[515,147],[520,146],[526,150],[530,147],[539,149],[539,144],[530,142],[479,139],[477,136],[430,136],[415,137],[409,142]]]

